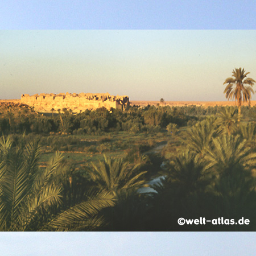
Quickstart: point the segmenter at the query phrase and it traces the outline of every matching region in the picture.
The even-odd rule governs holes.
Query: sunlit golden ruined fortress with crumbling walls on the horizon
[[[60,93],[60,94],[35,94],[30,96],[22,94],[20,101],[23,104],[34,107],[39,112],[57,111],[63,108],[71,109],[79,113],[86,109],[123,109],[130,104],[128,96],[110,96],[109,93]]]

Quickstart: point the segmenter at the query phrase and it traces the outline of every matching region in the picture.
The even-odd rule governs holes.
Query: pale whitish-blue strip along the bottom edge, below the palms
[[[253,232],[0,233],[5,256],[253,256]]]

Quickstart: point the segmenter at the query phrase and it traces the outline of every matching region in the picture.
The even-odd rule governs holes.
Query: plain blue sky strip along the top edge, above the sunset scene
[[[0,29],[254,29],[254,0],[1,0]]]

